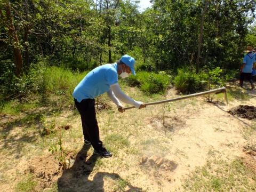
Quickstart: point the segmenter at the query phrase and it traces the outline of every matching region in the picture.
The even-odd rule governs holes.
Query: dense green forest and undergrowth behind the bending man
[[[165,89],[159,73],[181,92],[195,92],[211,76],[237,76],[246,45],[256,46],[253,0],[151,4],[140,12],[139,1],[1,1],[1,99],[47,91],[71,95],[83,75],[72,83],[70,74],[116,62],[123,54],[135,58],[136,71],[147,72],[131,77],[130,84],[143,84],[154,74],[151,83],[160,88],[150,91],[154,86],[147,85],[145,92]],[[53,78],[58,74],[60,89],[60,79]]]

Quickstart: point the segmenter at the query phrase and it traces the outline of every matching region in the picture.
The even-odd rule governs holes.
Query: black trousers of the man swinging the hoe
[[[95,150],[102,150],[100,141],[99,127],[95,113],[95,100],[83,99],[78,102],[75,99],[75,105],[81,115],[84,139],[90,140]]]

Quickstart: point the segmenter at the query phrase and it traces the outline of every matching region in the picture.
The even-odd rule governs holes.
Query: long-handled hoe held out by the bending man
[[[172,102],[172,101],[178,101],[178,100],[182,100],[182,99],[188,99],[188,98],[192,98],[192,97],[197,97],[200,95],[204,95],[204,94],[210,94],[210,93],[224,93],[225,94],[225,100],[228,104],[228,98],[227,98],[227,91],[226,91],[226,87],[221,87],[219,89],[214,89],[214,90],[210,90],[210,91],[204,91],[204,92],[200,92],[200,93],[194,93],[194,94],[189,94],[183,97],[178,97],[178,98],[174,98],[174,99],[167,99],[167,100],[162,100],[162,101],[156,101],[156,102],[149,102],[149,103],[145,103],[146,106],[150,106],[150,105],[158,105],[158,104],[162,104],[162,103],[166,103],[166,102]],[[125,107],[124,110],[127,109],[132,109],[135,108],[134,106],[131,107]]]

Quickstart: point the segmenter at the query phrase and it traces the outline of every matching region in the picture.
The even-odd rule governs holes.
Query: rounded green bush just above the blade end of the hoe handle
[[[176,89],[182,93],[193,93],[202,90],[205,86],[199,75],[186,68],[178,69],[178,75],[173,82]]]

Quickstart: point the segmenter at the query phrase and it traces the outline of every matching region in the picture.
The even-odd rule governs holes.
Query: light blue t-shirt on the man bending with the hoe
[[[107,92],[110,85],[117,82],[117,63],[102,65],[91,70],[76,86],[72,95],[78,102],[93,99]]]

